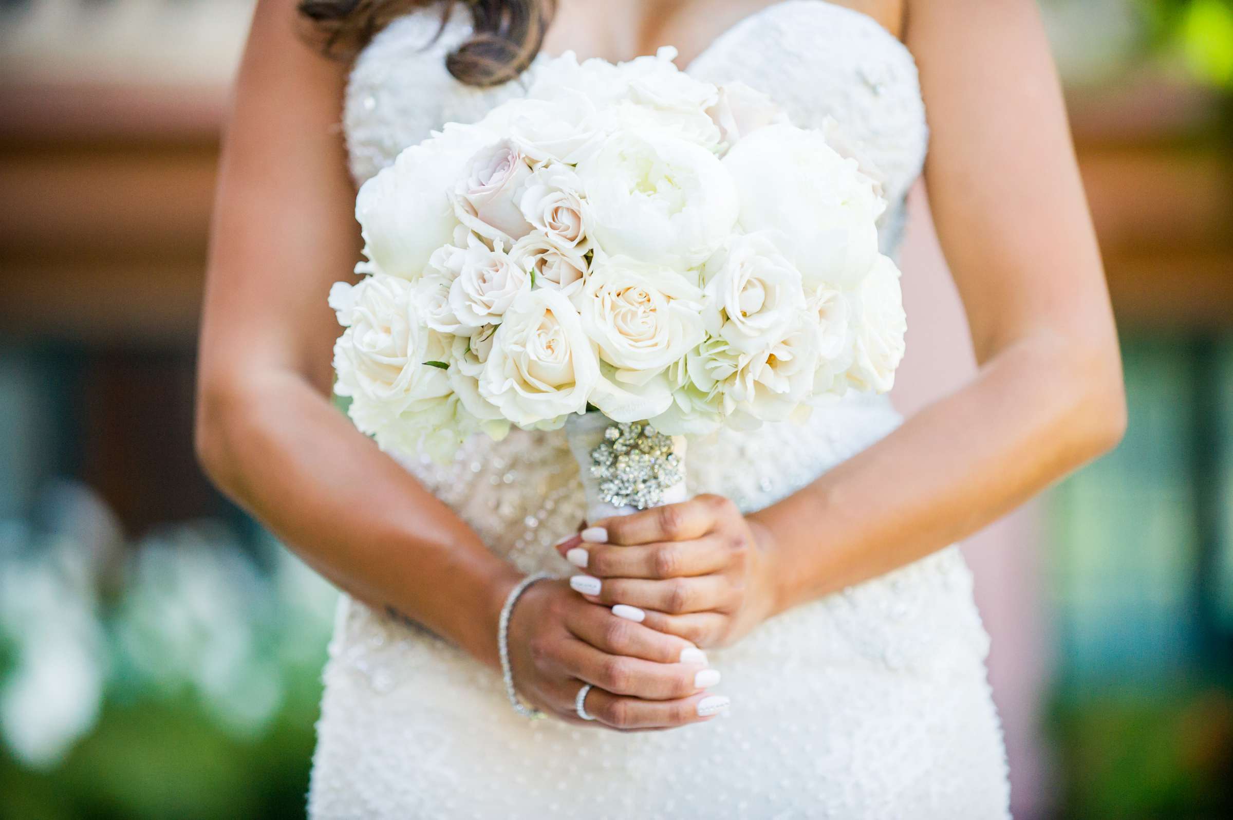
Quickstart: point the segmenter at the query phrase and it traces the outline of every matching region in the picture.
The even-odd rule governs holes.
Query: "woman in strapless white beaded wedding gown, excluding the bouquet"
[[[379,451],[329,401],[356,184],[555,54],[665,43],[797,125],[835,117],[890,203],[884,253],[924,171],[979,375],[906,420],[852,393],[690,440],[693,501],[581,533],[560,432],[475,439],[446,466]],[[312,816],[1009,816],[951,545],[1124,427],[1032,0],[263,0],[234,112],[199,450],[346,593]],[[520,589],[543,571],[561,580]]]

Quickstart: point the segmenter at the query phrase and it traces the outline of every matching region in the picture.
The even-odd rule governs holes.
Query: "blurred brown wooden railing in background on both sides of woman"
[[[224,97],[0,84],[7,332],[191,344]],[[1233,324],[1233,157],[1217,104],[1149,84],[1071,109],[1120,321]]]

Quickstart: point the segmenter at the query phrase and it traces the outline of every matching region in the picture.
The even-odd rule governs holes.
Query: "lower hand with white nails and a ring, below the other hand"
[[[708,698],[719,681],[689,641],[583,601],[565,581],[528,587],[509,620],[514,688],[530,705],[582,724],[575,697],[594,688],[584,708],[597,725],[618,730],[671,729],[709,720],[726,698]],[[720,703],[720,700],[723,703]],[[719,708],[716,708],[719,707]]]

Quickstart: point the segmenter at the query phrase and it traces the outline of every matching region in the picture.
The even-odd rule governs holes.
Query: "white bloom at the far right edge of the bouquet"
[[[857,305],[856,361],[848,380],[857,390],[884,393],[895,383],[895,369],[904,359],[907,332],[895,263],[888,256],[878,256],[853,300]]]

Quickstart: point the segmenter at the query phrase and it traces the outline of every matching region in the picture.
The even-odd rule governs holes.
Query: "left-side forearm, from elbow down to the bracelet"
[[[256,387],[203,388],[197,428],[211,477],[309,565],[497,662],[515,570],[306,380],[274,372]]]

